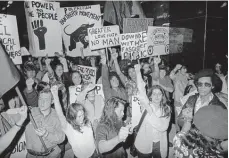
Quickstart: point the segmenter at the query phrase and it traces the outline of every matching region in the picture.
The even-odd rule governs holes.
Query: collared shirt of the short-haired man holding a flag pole
[[[61,129],[59,118],[54,109],[51,109],[50,114],[45,117],[37,107],[31,109],[31,112],[37,127],[43,127],[48,131],[48,136],[43,137],[47,148],[54,148],[57,146],[57,144],[60,144],[64,141],[65,135]],[[31,122],[26,126],[25,138],[27,149],[37,152],[45,151],[38,135],[35,133],[34,126]]]

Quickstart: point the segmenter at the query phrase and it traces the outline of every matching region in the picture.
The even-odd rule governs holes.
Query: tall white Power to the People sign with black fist
[[[60,8],[60,3],[57,2],[25,2],[29,52],[32,56],[54,56],[55,52],[63,53],[57,8]]]

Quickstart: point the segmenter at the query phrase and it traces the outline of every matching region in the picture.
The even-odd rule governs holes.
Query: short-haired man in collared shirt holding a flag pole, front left
[[[32,117],[37,125],[34,127],[33,122],[30,122],[25,129],[27,158],[43,157],[59,158],[60,148],[58,144],[65,139],[64,133],[61,130],[60,120],[56,111],[51,108],[52,94],[50,89],[45,89],[39,93],[38,107],[31,109]],[[31,118],[30,118],[31,120]],[[41,137],[49,151],[44,149],[40,141]]]

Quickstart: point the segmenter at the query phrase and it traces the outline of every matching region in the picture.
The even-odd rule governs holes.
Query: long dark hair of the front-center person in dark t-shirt
[[[119,121],[115,113],[115,109],[119,106],[120,103],[125,105],[126,101],[117,97],[112,97],[108,99],[104,106],[102,117],[100,119],[100,123],[107,125],[114,131],[119,131],[119,129],[117,128],[117,123]]]

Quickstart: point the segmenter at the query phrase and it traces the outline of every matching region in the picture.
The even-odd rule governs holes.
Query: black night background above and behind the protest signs
[[[105,1],[61,1],[61,7],[100,4],[101,12]],[[225,7],[221,7],[226,3]],[[223,64],[227,71],[228,59],[228,2],[207,2],[207,36],[205,68],[213,68],[216,62]],[[0,13],[17,16],[21,46],[28,48],[28,36],[23,1],[14,1],[7,7],[8,1],[0,1]],[[170,27],[193,29],[192,43],[184,43],[183,53],[167,57],[170,66],[185,64],[192,72],[203,68],[204,30],[206,1],[143,1],[141,3],[147,18],[155,18],[155,25],[170,23]],[[2,10],[6,7],[5,10]],[[169,17],[157,18],[163,13]]]

